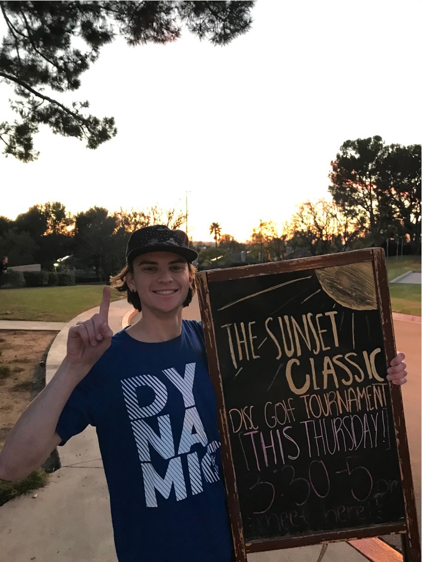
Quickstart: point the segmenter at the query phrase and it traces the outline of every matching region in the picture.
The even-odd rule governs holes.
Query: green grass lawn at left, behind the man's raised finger
[[[84,310],[98,306],[102,285],[28,287],[0,290],[0,320],[68,322]],[[111,290],[111,301],[121,298]]]

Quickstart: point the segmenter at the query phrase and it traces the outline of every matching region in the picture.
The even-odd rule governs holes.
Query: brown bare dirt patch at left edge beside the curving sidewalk
[[[57,332],[0,330],[0,449],[17,418],[46,384],[47,353]],[[57,466],[53,454],[43,466]]]

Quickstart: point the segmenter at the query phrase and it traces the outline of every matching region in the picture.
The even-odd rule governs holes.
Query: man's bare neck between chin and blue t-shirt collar
[[[149,310],[142,311],[141,318],[126,331],[140,342],[167,342],[182,333],[182,309],[165,315],[154,314]]]

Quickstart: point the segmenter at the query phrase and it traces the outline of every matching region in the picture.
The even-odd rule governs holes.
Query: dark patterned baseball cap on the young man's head
[[[189,240],[183,230],[170,230],[163,224],[154,224],[135,230],[131,234],[126,248],[126,261],[148,252],[172,252],[183,256],[188,262],[198,257],[195,250],[189,248]]]

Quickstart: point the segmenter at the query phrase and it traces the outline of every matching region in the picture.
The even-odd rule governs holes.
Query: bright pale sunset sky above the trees
[[[209,226],[238,241],[259,221],[280,229],[300,203],[330,198],[330,162],[347,139],[421,142],[419,1],[258,0],[254,23],[225,47],[186,29],[176,43],[102,48],[66,103],[114,116],[95,151],[35,136],[23,164],[0,155],[0,215],[60,201],[72,214],[158,205],[186,212],[194,241]],[[0,24],[2,25],[2,24]],[[0,33],[4,27],[0,27]],[[12,90],[0,84],[0,121]]]

